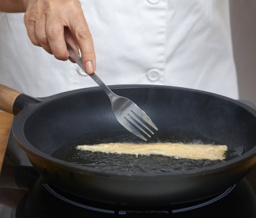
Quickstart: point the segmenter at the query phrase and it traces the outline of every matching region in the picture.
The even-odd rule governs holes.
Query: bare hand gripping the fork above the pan
[[[58,60],[67,60],[66,38],[77,51],[79,46],[85,72],[95,71],[93,38],[79,0],[24,0],[24,8],[32,44],[41,46]]]

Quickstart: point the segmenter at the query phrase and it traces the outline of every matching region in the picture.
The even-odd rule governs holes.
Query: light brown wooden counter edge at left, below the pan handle
[[[6,112],[0,112],[0,172],[3,164],[3,158],[5,156],[12,119],[13,115]]]

